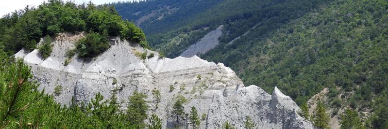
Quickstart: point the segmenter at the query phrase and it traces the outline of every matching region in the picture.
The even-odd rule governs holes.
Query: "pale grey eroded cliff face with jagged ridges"
[[[183,95],[188,102],[186,113],[192,106],[198,114],[207,115],[201,121],[201,129],[217,129],[230,121],[236,128],[244,128],[246,116],[253,118],[260,129],[313,129],[311,123],[297,114],[300,108],[291,98],[275,87],[272,95],[258,86],[244,86],[230,68],[222,63],[208,62],[194,56],[190,58],[140,59],[136,52],[143,52],[137,44],[111,40],[111,47],[94,59],[72,57],[64,66],[66,52],[74,49],[74,43],[83,35],[61,34],[56,37],[51,57],[41,59],[37,50],[27,53],[19,51],[15,56],[24,57],[32,67],[35,78],[41,83],[39,89],[52,94],[56,85],[63,91],[55,99],[69,104],[71,98],[88,102],[97,93],[104,99],[116,93],[125,109],[128,97],[134,91],[148,95],[149,114],[155,113],[163,119],[163,127],[173,127],[176,118],[171,116],[174,98]],[[197,78],[198,75],[202,77]],[[116,83],[117,82],[117,83]],[[170,92],[170,86],[175,89]],[[157,102],[152,90],[159,90],[161,100]],[[185,126],[185,120],[181,120]]]

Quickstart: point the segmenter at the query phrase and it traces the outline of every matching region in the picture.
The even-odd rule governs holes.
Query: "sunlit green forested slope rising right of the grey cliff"
[[[385,0],[338,0],[279,29],[254,29],[202,57],[232,67],[246,85],[268,92],[278,86],[298,104],[329,87],[331,107],[371,109],[371,125],[387,127],[387,9]]]

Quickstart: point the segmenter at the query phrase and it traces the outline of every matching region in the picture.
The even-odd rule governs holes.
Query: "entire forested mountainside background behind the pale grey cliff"
[[[152,12],[153,3],[170,5],[150,0],[117,8],[136,21],[138,17],[129,17],[150,10],[125,6],[141,4]],[[187,11],[185,5],[173,7],[175,12]],[[158,16],[140,27],[147,30],[152,47],[177,57],[224,25],[219,46],[201,57],[225,63],[245,85],[267,92],[278,86],[299,105],[328,87],[324,103],[332,115],[350,107],[367,113],[362,114],[367,127],[388,127],[386,0],[219,0],[206,7],[180,21],[163,17],[171,22],[165,25],[176,25],[171,28],[152,30],[153,24],[163,26]]]

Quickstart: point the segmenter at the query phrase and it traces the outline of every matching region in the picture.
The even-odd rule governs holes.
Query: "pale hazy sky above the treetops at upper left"
[[[40,3],[47,0],[0,0],[0,17],[11,13],[15,10],[20,10],[26,7],[26,5],[38,6]],[[68,0],[64,0],[68,1]],[[88,2],[89,0],[74,0],[76,3]],[[132,1],[132,0],[90,0],[95,4],[103,4],[117,1]]]

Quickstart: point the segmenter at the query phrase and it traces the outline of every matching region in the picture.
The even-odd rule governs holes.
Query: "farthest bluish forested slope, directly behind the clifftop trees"
[[[147,34],[168,32],[189,24],[199,13],[222,0],[146,0],[114,3],[124,19],[134,21]]]

